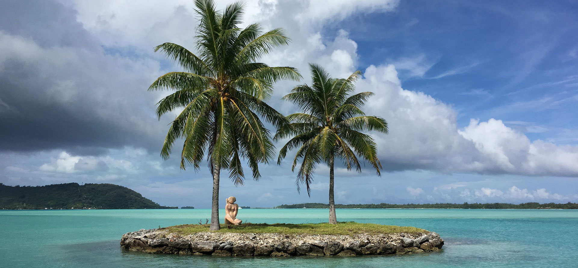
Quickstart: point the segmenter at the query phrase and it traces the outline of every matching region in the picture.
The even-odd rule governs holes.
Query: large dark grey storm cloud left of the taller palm
[[[159,150],[165,124],[146,92],[154,67],[106,55],[76,12],[52,1],[4,2],[0,34],[10,53],[0,61],[0,150]]]

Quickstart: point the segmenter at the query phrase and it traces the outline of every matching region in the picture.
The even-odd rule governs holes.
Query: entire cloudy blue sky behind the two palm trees
[[[218,1],[223,9],[230,1]],[[194,51],[189,0],[0,0],[0,183],[112,183],[165,206],[209,208],[212,178],[160,157],[168,124],[147,88],[180,70],[153,47]],[[261,58],[298,68],[281,101],[309,83],[307,64],[333,77],[361,70],[357,91],[384,171],[336,165],[335,202],[578,202],[578,3],[575,1],[259,0],[244,26],[283,27],[292,42]],[[282,146],[283,141],[277,144]],[[177,144],[178,146],[178,144]],[[328,201],[328,168],[299,194],[291,154],[221,199],[241,206]]]

